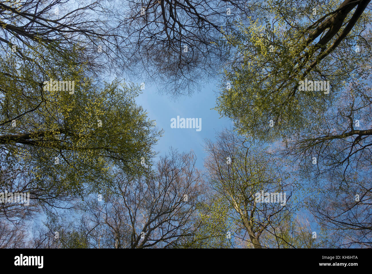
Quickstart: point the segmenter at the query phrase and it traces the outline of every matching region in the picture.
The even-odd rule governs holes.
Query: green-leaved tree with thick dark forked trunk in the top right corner
[[[216,109],[241,133],[263,140],[317,123],[348,82],[371,73],[368,3],[268,1],[259,8],[262,18],[229,38],[237,51]],[[329,81],[329,91],[319,83],[302,90],[306,79]]]

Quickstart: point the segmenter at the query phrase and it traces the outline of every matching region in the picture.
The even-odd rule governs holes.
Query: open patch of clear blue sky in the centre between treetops
[[[140,83],[139,83],[140,84]],[[190,149],[196,154],[198,160],[196,167],[203,167],[203,158],[206,156],[203,144],[204,139],[214,140],[215,133],[224,127],[230,128],[232,122],[226,118],[219,118],[219,114],[211,108],[215,107],[217,82],[206,85],[192,97],[182,97],[175,101],[168,95],[160,95],[154,86],[145,84],[142,94],[137,97],[136,102],[142,105],[148,112],[151,120],[156,120],[156,125],[164,129],[164,136],[160,138],[155,151],[158,155],[164,155],[170,147],[177,148],[179,152],[189,152]],[[201,131],[196,129],[171,128],[170,119],[176,118],[201,118]]]

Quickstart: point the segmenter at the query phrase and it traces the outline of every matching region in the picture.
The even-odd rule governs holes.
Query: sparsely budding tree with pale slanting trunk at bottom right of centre
[[[264,247],[261,235],[278,229],[297,203],[291,205],[290,201],[295,182],[283,163],[249,139],[227,130],[218,135],[216,143],[207,141],[206,151],[208,179],[221,198],[215,214],[221,209],[225,218],[232,220],[236,230],[227,231],[230,235],[252,243],[254,248]],[[274,201],[272,193],[281,193],[283,199],[276,197]]]

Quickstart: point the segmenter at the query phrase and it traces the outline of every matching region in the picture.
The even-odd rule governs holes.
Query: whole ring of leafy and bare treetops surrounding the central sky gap
[[[368,0],[2,1],[0,248],[371,248],[371,22]],[[158,153],[148,82],[216,84],[233,127]]]

